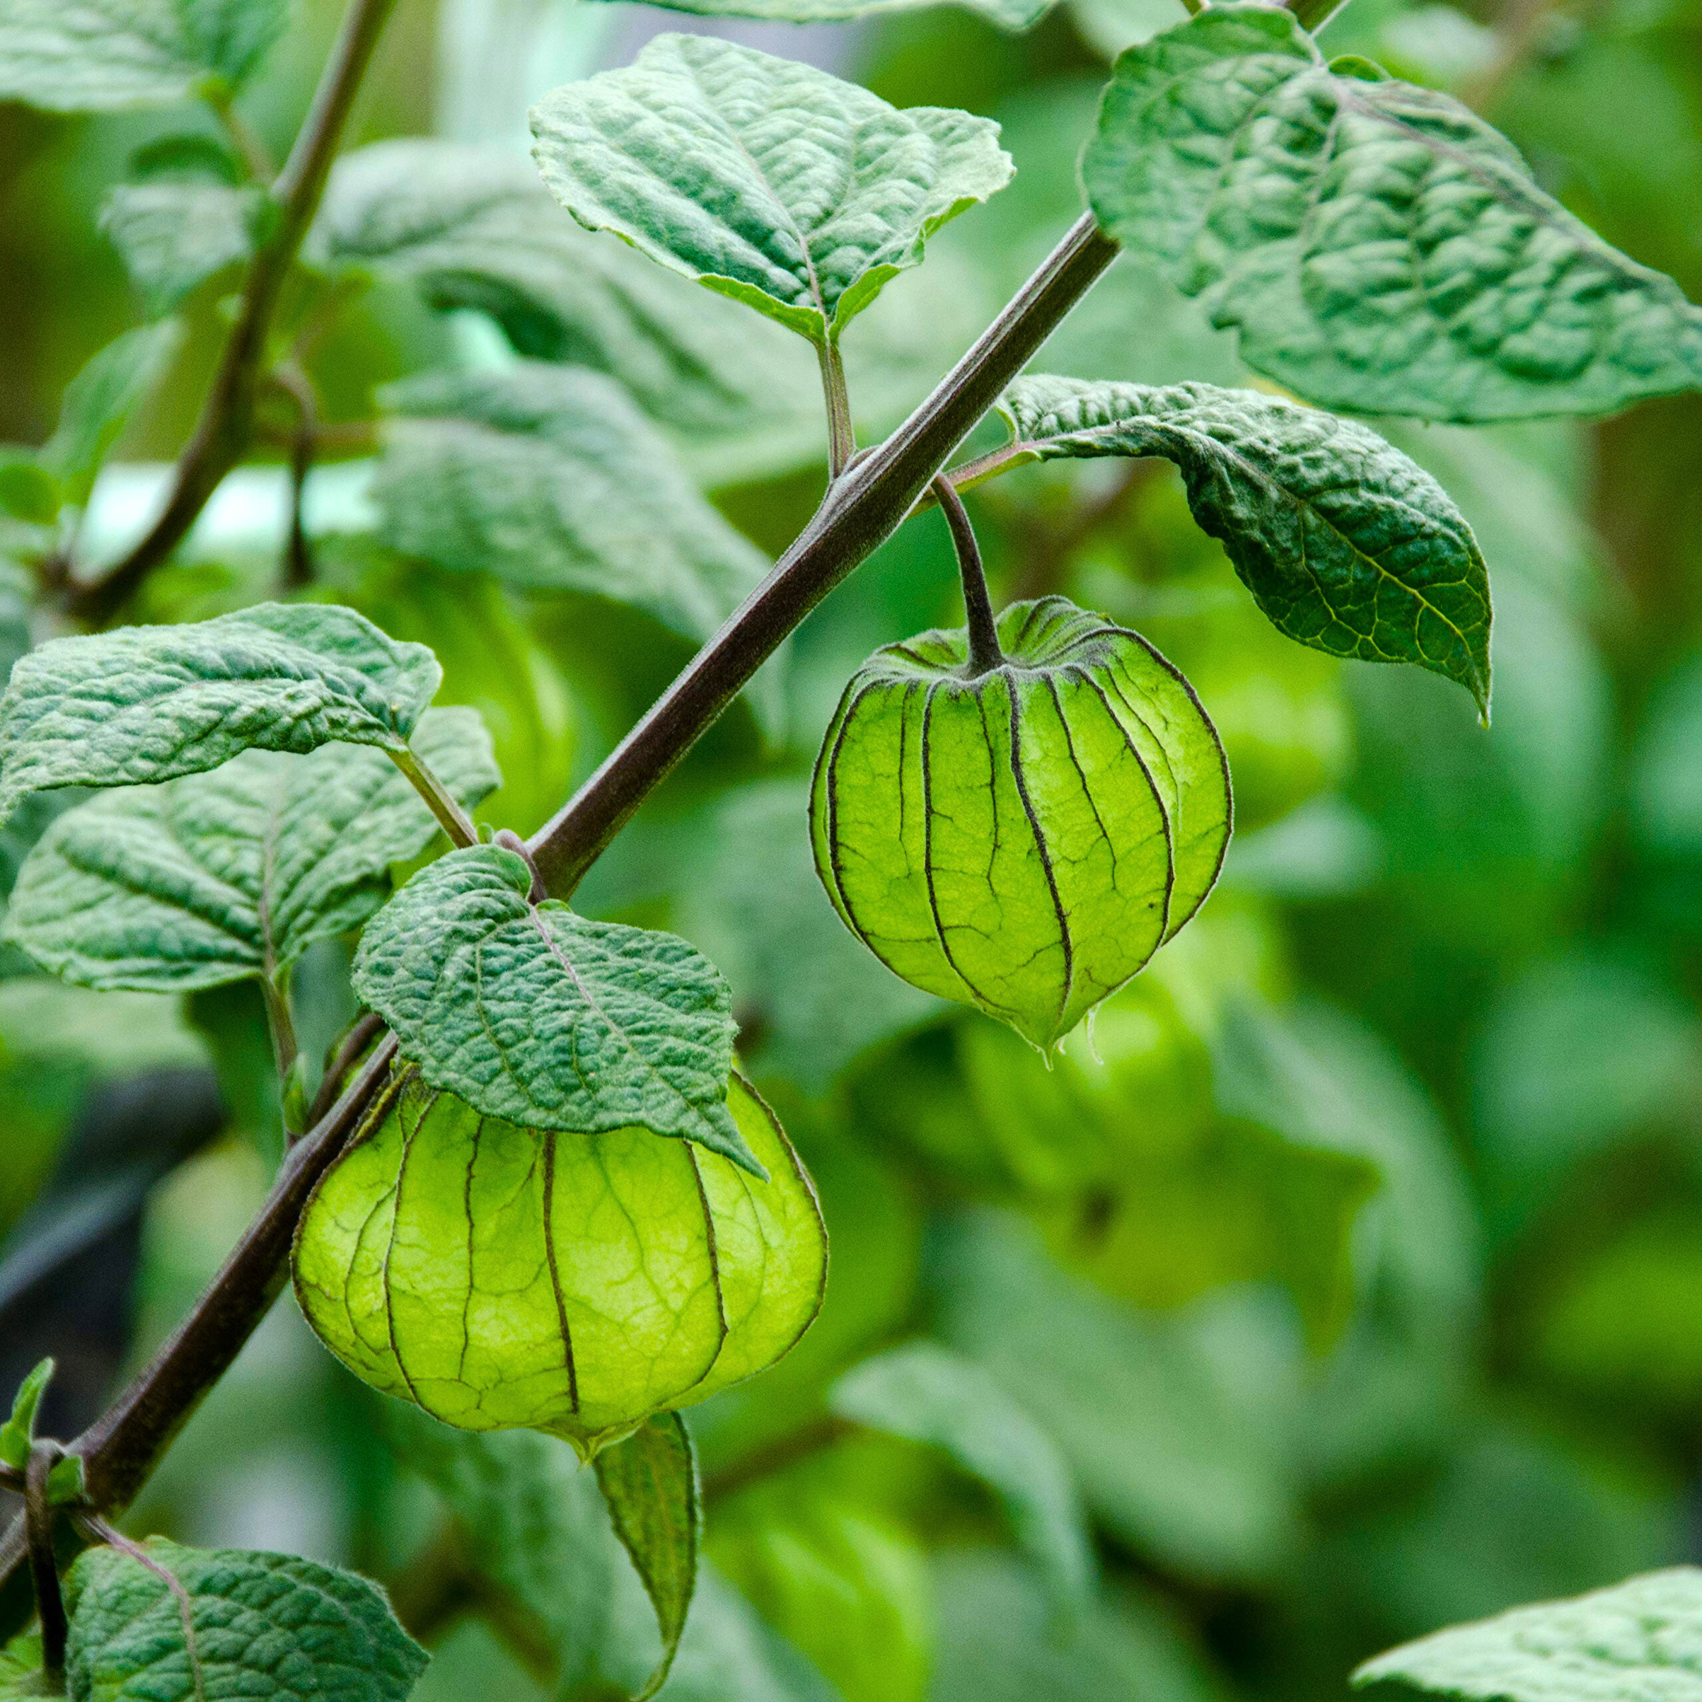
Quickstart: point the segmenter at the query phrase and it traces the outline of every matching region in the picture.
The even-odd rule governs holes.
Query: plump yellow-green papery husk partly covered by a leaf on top
[[[810,1178],[739,1076],[727,1105],[768,1183],[647,1128],[482,1117],[405,1067],[308,1200],[301,1311],[374,1389],[589,1459],[764,1370],[820,1311]]]

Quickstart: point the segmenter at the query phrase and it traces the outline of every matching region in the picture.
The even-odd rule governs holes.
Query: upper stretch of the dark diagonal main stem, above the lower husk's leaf
[[[897,529],[946,456],[1117,252],[1093,216],[1082,214],[933,395],[829,488],[815,517],[768,579],[533,836],[533,861],[555,897],[565,899],[574,890],[633,810],[805,614]]]

